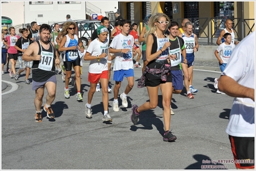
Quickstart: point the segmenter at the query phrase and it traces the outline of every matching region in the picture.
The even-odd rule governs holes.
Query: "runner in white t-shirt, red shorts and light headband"
[[[108,114],[108,62],[111,56],[108,52],[108,29],[105,26],[97,28],[98,38],[94,39],[85,54],[84,60],[90,60],[89,76],[90,90],[88,92],[88,102],[85,104],[85,115],[87,118],[92,118],[91,102],[96,85],[101,81],[104,116],[103,121],[112,122],[112,118]]]

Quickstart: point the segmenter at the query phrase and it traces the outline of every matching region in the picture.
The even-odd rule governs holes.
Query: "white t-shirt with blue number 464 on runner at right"
[[[221,58],[221,60],[223,60],[223,63],[228,63],[228,60],[234,48],[235,48],[235,44],[227,45],[224,42],[219,45],[219,47],[217,48],[217,51],[219,53],[219,57]]]

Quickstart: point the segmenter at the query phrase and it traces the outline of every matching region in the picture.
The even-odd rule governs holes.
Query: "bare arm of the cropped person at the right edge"
[[[219,78],[218,89],[231,97],[250,98],[254,101],[255,90],[239,85],[232,77],[221,76]]]

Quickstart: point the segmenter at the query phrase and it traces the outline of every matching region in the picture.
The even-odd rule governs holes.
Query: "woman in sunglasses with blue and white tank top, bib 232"
[[[80,56],[78,51],[83,53],[83,43],[80,41],[78,36],[74,33],[76,24],[74,22],[65,22],[61,31],[62,40],[58,48],[59,51],[65,51],[64,55],[64,66],[66,70],[65,76],[65,98],[69,99],[69,79],[71,77],[72,65],[74,67],[76,77],[76,98],[78,101],[83,101],[81,96],[81,78],[80,78]]]

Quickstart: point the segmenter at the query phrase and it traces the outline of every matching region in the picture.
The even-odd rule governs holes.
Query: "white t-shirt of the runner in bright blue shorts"
[[[133,69],[132,47],[134,38],[132,35],[124,36],[123,34],[116,35],[110,47],[113,49],[130,49],[128,53],[115,53],[115,63],[113,70],[129,70]]]

